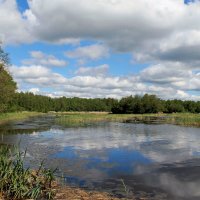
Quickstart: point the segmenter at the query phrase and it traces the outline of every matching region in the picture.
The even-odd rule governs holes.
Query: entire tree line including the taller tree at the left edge
[[[0,113],[16,111],[64,112],[107,111],[112,113],[200,113],[200,101],[162,100],[156,95],[113,98],[51,98],[33,93],[16,92],[16,83],[7,70],[8,55],[0,46]]]

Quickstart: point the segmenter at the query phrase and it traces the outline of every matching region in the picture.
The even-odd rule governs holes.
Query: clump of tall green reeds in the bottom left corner
[[[55,170],[24,167],[25,152],[0,146],[0,199],[53,199]]]

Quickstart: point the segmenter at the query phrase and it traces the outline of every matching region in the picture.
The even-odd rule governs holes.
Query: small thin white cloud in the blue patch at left
[[[41,51],[31,51],[31,58],[23,60],[24,65],[44,65],[44,66],[56,66],[63,67],[68,63],[65,60],[56,58],[53,55],[47,55]]]

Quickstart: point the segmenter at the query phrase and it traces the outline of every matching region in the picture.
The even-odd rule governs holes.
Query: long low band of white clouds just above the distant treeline
[[[67,78],[44,66],[12,66],[9,70],[22,91],[24,88],[26,90],[39,88],[38,93],[45,94],[47,93],[45,89],[48,89],[48,91],[52,91],[51,93],[48,92],[48,95],[54,97],[121,98],[150,93],[164,99],[173,97],[200,100],[198,96],[186,93],[182,85],[174,87],[170,84],[148,84],[142,80],[140,74],[121,77],[91,74]],[[199,74],[197,76],[199,77]],[[193,84],[192,80],[190,80],[191,84]]]

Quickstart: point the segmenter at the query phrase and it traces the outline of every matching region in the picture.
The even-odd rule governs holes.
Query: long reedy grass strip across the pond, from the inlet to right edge
[[[200,114],[59,113],[56,122],[66,127],[87,126],[99,122],[161,122],[200,127]]]

